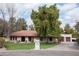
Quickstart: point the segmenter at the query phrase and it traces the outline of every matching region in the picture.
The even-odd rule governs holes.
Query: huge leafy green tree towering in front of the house
[[[59,9],[56,4],[47,7],[46,5],[39,9],[32,10],[31,18],[34,22],[35,30],[39,36],[56,36],[61,33],[59,18]]]

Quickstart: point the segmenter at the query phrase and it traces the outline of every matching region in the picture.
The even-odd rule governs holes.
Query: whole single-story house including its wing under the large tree
[[[21,30],[21,31],[13,32],[10,35],[10,41],[12,42],[30,43],[30,42],[34,42],[35,39],[40,39],[41,42],[47,42],[47,41],[53,42],[55,38],[52,36],[47,36],[47,37],[37,36],[37,32],[32,30]]]

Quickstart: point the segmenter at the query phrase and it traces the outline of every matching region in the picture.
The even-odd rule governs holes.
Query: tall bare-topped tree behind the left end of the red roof
[[[15,4],[6,4],[6,12],[9,16],[9,24],[8,24],[8,36],[16,31],[16,11]]]

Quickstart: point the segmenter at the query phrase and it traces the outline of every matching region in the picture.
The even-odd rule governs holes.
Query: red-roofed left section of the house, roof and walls
[[[32,42],[36,39],[37,32],[31,30],[21,30],[10,35],[10,40],[13,42]]]

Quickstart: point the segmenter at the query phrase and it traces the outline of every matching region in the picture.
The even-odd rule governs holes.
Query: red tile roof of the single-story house
[[[29,30],[21,30],[17,32],[13,32],[10,36],[37,36],[36,31]]]

